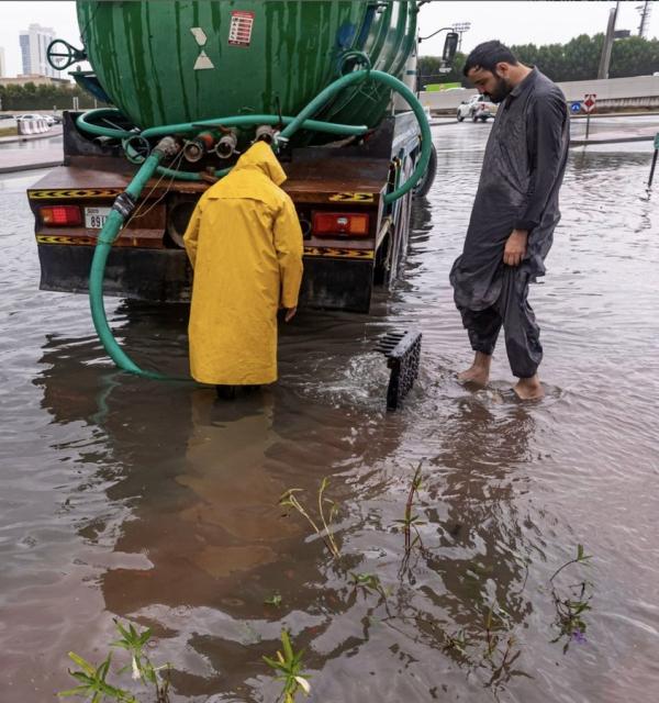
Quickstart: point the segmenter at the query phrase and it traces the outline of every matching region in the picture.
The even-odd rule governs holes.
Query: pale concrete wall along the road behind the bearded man
[[[633,76],[630,78],[608,78],[606,80],[573,80],[558,83],[569,102],[583,100],[587,93],[597,96],[597,108],[659,109],[659,76]],[[473,89],[439,90],[420,93],[421,104],[435,111],[457,110],[462,100],[476,94]]]

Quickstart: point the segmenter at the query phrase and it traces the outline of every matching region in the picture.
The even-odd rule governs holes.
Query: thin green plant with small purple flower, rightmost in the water
[[[589,565],[592,555],[587,555],[583,550],[583,545],[577,545],[577,556],[574,559],[566,561],[559,567],[551,578],[549,583],[551,584],[551,598],[554,600],[554,606],[556,607],[556,623],[558,627],[558,635],[551,640],[551,643],[559,641],[563,637],[566,641],[563,644],[563,654],[570,648],[570,644],[576,641],[580,645],[587,643],[585,629],[587,623],[583,620],[583,614],[592,610],[590,601],[592,594],[592,583],[588,580],[573,583],[569,587],[569,593],[560,592],[554,584],[554,579],[566,568],[574,563]]]

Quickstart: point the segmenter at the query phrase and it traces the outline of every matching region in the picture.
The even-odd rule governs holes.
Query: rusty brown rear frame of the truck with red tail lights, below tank
[[[40,288],[83,293],[104,219],[136,167],[115,142],[78,130],[76,118],[64,114],[64,164],[30,188],[27,198]],[[392,203],[384,196],[409,178],[420,153],[415,116],[400,112],[361,137],[281,155],[288,176],[282,188],[304,236],[301,305],[366,313],[373,286],[395,280],[407,248],[413,193]],[[427,191],[434,169],[432,159],[416,193]],[[199,197],[214,180],[210,174],[202,181],[161,176],[147,183],[110,253],[107,294],[190,300],[192,271],[182,236]]]

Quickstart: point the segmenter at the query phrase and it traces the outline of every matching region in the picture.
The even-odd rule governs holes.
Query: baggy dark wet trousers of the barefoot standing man
[[[540,328],[528,304],[529,274],[520,267],[505,266],[499,300],[485,310],[458,305],[462,324],[474,352],[492,355],[501,327],[513,376],[529,378],[543,360]]]

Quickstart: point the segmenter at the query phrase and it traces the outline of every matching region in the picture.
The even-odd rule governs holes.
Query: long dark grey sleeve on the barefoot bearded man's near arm
[[[543,219],[549,196],[561,172],[563,134],[568,111],[557,94],[538,97],[530,111],[529,187],[524,208],[515,221],[516,230],[533,230]]]

